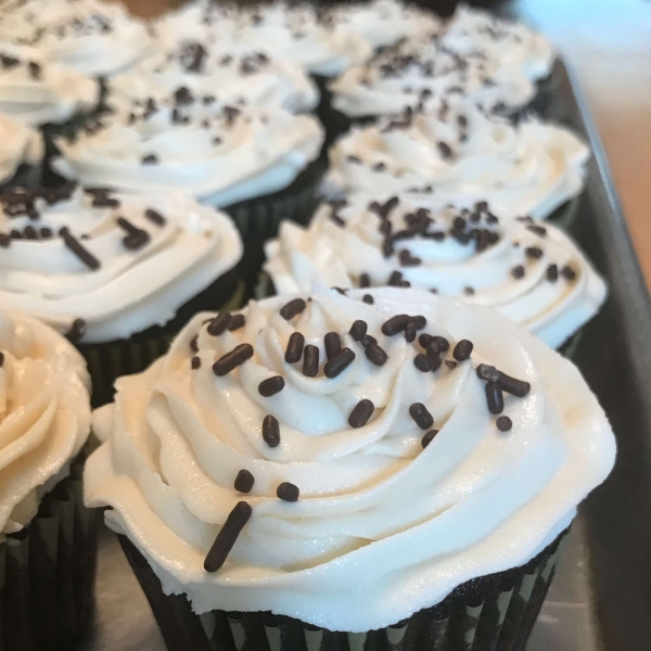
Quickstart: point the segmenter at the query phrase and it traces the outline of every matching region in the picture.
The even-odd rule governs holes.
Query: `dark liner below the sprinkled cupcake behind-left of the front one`
[[[176,317],[165,326],[152,326],[128,340],[97,344],[75,342],[88,363],[92,380],[93,408],[113,399],[113,383],[117,378],[140,373],[164,355],[175,335],[196,312],[238,309],[242,306],[243,297],[244,283],[240,271],[237,268],[231,269],[182,305]]]

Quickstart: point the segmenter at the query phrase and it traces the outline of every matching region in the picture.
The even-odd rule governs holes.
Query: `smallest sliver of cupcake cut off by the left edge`
[[[0,113],[0,190],[40,181],[43,139],[27,125]]]

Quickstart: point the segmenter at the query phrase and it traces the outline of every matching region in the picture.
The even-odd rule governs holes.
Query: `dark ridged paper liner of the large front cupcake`
[[[127,536],[118,538],[169,651],[523,651],[566,535],[521,567],[467,582],[442,603],[366,633],[327,630],[271,613],[196,615],[184,596],[163,592]]]

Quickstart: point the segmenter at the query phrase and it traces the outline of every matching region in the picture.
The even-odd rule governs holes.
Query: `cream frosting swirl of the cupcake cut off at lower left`
[[[51,328],[0,314],[0,539],[36,515],[90,432],[84,358]]]

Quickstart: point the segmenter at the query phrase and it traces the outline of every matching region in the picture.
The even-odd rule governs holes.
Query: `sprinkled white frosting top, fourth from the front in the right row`
[[[509,114],[528,104],[534,84],[518,68],[484,52],[459,55],[438,34],[408,38],[330,85],[333,106],[350,117],[382,116],[417,108],[434,97],[448,103],[472,100],[485,111]]]

